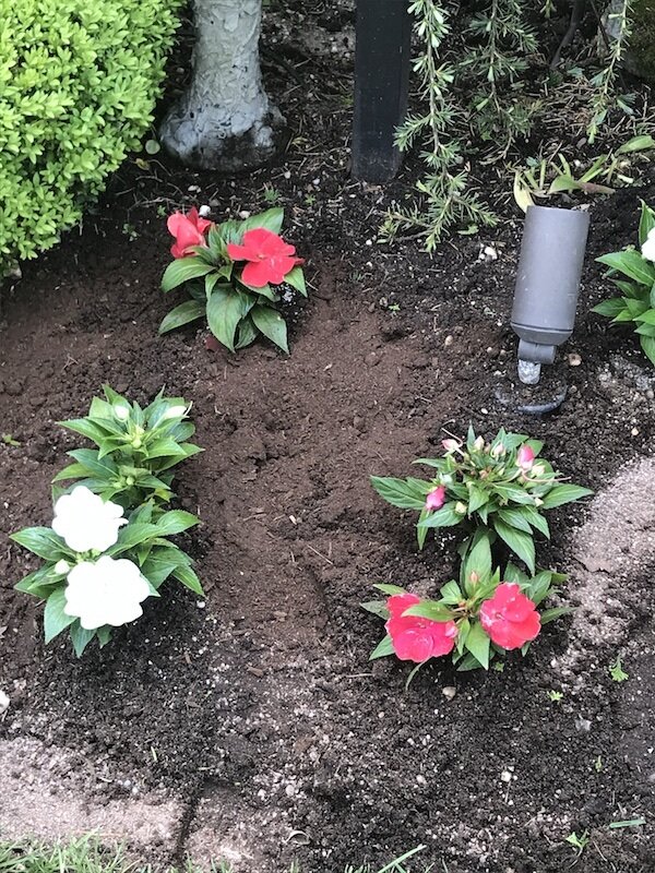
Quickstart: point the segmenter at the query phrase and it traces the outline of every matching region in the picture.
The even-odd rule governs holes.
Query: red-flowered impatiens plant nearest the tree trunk
[[[283,219],[281,208],[218,225],[195,210],[169,216],[176,260],[164,273],[162,289],[184,285],[191,299],[166,315],[159,333],[206,318],[211,332],[230,351],[263,335],[288,352],[278,303],[294,291],[307,297],[307,289],[302,259],[279,236]]]

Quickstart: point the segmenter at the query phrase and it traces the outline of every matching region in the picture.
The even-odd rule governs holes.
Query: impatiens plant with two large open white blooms
[[[51,527],[11,537],[44,561],[15,587],[45,601],[46,643],[68,630],[78,657],[94,638],[106,645],[169,576],[202,595],[191,558],[168,539],[196,524],[191,513],[154,512],[152,503],[126,515],[82,485],[60,497]]]

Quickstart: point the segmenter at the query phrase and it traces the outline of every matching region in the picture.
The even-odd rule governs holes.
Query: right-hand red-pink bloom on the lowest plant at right
[[[541,629],[541,619],[515,582],[501,582],[493,597],[480,607],[480,624],[491,642],[511,649],[534,639]]]

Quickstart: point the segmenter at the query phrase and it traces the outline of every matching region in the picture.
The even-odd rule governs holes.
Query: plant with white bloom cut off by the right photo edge
[[[621,297],[604,300],[592,312],[607,315],[612,324],[635,325],[644,355],[655,363],[655,211],[643,201],[639,244],[641,252],[629,247],[596,259],[610,267],[608,275]]]

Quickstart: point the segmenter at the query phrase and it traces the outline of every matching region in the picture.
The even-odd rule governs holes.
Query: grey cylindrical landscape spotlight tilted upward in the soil
[[[573,332],[588,229],[587,212],[527,208],[511,319],[526,385],[538,383],[541,364]]]

